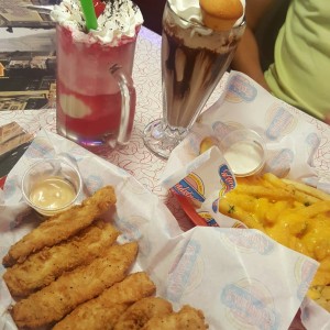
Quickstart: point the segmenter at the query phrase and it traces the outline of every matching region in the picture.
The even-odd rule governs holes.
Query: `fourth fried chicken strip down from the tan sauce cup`
[[[146,273],[130,274],[112,285],[100,296],[79,305],[61,320],[53,330],[106,330],[113,329],[119,317],[133,302],[154,294],[156,287]]]

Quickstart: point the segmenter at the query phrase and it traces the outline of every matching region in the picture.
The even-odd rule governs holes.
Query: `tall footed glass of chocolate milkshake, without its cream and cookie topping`
[[[213,31],[177,14],[165,4],[162,34],[163,119],[147,124],[144,143],[168,158],[187,135],[228,69],[245,22],[230,31]]]

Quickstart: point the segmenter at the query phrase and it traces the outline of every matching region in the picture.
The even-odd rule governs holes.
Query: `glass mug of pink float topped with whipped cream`
[[[132,69],[143,23],[130,0],[95,4],[95,30],[87,31],[79,0],[63,0],[51,13],[57,22],[57,132],[90,150],[130,140],[136,100]]]

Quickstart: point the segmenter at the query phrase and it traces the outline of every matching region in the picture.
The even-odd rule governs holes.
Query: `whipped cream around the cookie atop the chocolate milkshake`
[[[226,0],[223,0],[226,1]],[[242,23],[245,12],[245,0],[241,0],[243,6],[243,15],[235,22],[234,26],[239,26]],[[199,0],[168,0],[172,10],[189,22],[196,22],[202,24],[202,16],[199,6]]]

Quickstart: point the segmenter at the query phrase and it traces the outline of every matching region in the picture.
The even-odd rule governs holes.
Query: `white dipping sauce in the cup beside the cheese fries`
[[[228,147],[223,154],[233,173],[238,176],[252,174],[264,162],[264,150],[253,141],[239,141]]]

